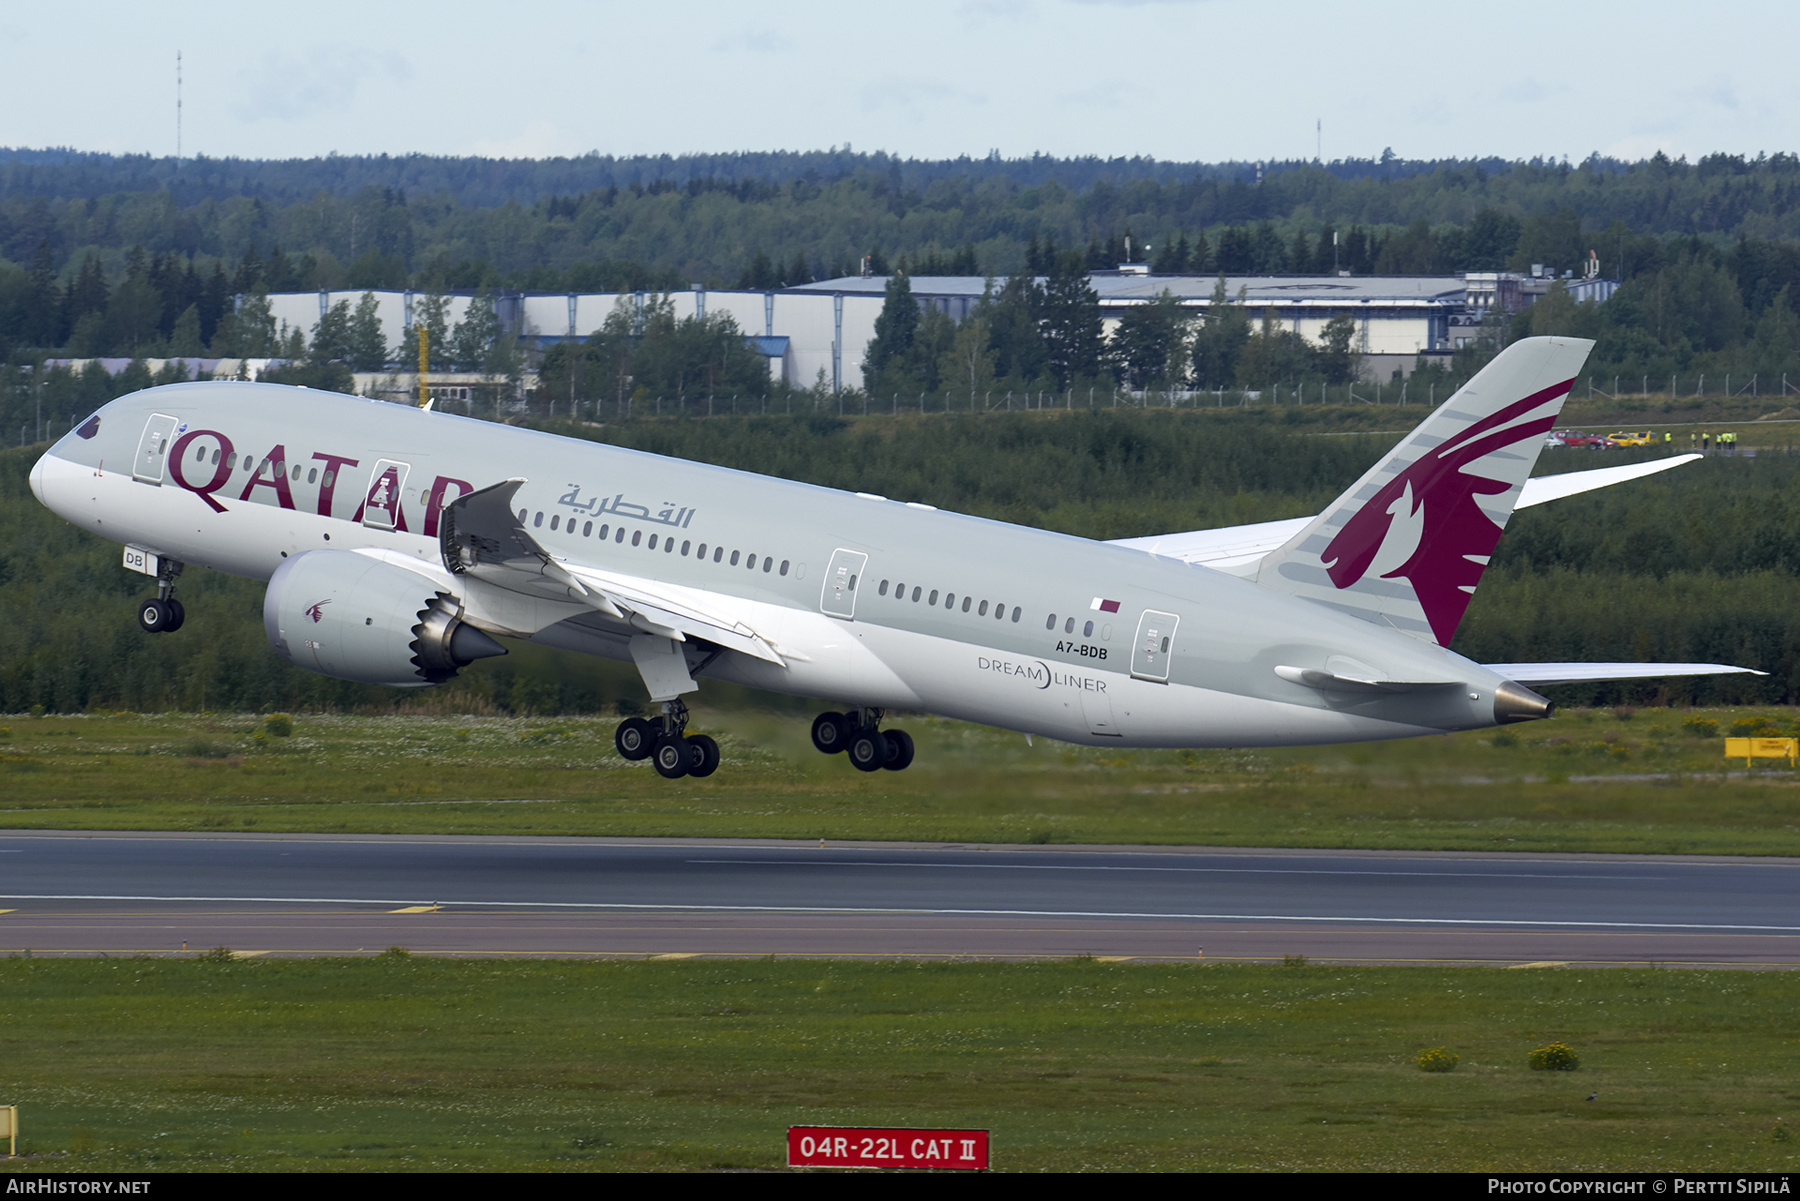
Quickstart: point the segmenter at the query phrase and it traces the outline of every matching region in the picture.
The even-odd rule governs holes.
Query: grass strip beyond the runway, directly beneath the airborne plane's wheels
[[[702,713],[725,763],[668,781],[610,718],[0,718],[0,828],[830,837],[1800,853],[1800,778],[1726,763],[1791,709],[1573,711],[1505,731],[1274,751],[1087,749],[932,718],[904,774],[797,715]],[[1715,731],[1696,733],[1696,722]],[[1705,729],[1705,727],[1703,727]],[[1730,771],[1728,771],[1730,769]]]

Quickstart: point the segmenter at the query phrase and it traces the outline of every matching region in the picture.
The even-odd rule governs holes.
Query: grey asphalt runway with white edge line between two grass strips
[[[0,834],[0,953],[1800,967],[1800,859]]]

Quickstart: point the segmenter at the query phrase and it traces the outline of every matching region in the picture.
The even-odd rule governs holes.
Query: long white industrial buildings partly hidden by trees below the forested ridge
[[[1154,275],[1141,265],[1094,272],[1089,279],[1100,297],[1102,324],[1109,335],[1127,308],[1150,303],[1163,292],[1204,315],[1219,286],[1217,275]],[[1451,355],[1476,335],[1490,312],[1517,312],[1552,283],[1553,277],[1541,268],[1530,275],[1229,275],[1224,281],[1229,301],[1244,304],[1255,321],[1271,317],[1312,342],[1321,340],[1328,321],[1350,315],[1357,324],[1354,349],[1363,355],[1364,371],[1372,378],[1388,378],[1393,371],[1409,373],[1420,355]],[[695,286],[671,292],[668,299],[677,319],[731,315],[751,348],[769,358],[770,380],[812,387],[823,378],[832,391],[841,391],[862,387],[862,353],[875,337],[886,286],[886,277],[853,275],[772,292]],[[988,281],[972,275],[916,275],[911,286],[922,306],[940,308],[954,321],[963,321],[979,304]],[[1618,284],[1589,275],[1566,279],[1566,286],[1577,301],[1604,301]],[[277,322],[310,333],[328,308],[340,301],[349,301],[355,308],[362,295],[290,292],[268,299]],[[473,295],[446,295],[452,326],[463,321]],[[401,331],[412,324],[414,304],[421,297],[421,292],[374,292],[391,346],[398,346]],[[493,293],[502,330],[538,348],[587,339],[617,304],[641,304],[644,299],[646,293],[630,292]]]

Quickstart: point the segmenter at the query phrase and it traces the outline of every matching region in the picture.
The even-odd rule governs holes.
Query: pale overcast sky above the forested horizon
[[[0,146],[1175,160],[1793,151],[1800,4],[0,0]]]

